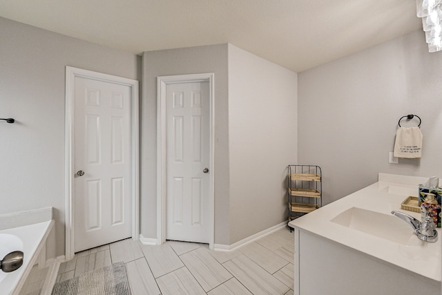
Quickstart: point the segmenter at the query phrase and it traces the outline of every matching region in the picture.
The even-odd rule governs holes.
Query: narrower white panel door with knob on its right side
[[[209,82],[166,86],[166,239],[210,240]]]

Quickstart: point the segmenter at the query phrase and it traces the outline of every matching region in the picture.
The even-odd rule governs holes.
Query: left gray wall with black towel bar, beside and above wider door
[[[139,79],[141,57],[4,18],[0,40],[0,213],[55,207],[64,255],[65,66]]]

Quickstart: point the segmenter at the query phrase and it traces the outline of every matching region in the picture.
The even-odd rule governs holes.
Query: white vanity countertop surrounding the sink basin
[[[394,227],[397,225],[398,231],[402,233],[410,231],[410,238],[407,242],[396,242],[394,239],[367,234],[332,221],[340,213],[352,208],[385,214],[389,216],[385,216],[386,220],[390,220],[391,211],[394,210],[421,220],[420,213],[402,210],[401,202],[408,196],[417,196],[418,184],[425,182],[427,178],[379,173],[378,180],[360,191],[292,220],[289,226],[338,242],[396,267],[440,282],[442,277],[440,228],[437,228],[439,238],[436,242],[424,242],[417,238],[410,225],[397,218],[400,222],[394,220]]]

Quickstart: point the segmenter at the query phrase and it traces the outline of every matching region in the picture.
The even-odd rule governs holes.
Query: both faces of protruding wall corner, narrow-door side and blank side
[[[192,73],[215,73],[215,244],[224,247],[287,218],[285,169],[297,155],[297,77],[231,44],[144,53],[145,238],[157,237],[157,77]]]

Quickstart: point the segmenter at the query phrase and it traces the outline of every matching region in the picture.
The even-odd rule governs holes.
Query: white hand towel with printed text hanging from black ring
[[[394,157],[422,157],[422,133],[419,127],[401,127],[396,131]]]

